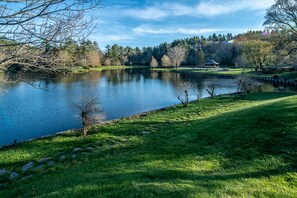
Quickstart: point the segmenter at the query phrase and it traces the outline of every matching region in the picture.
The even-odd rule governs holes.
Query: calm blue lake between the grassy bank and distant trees
[[[27,78],[31,81],[32,79]],[[171,72],[148,69],[110,70],[2,85],[0,95],[0,146],[80,128],[81,121],[73,103],[82,96],[97,96],[106,120],[117,119],[178,104],[180,85],[191,83],[191,100],[198,92],[207,97],[206,87],[215,83],[216,94],[237,91],[234,79],[216,77],[186,78]],[[262,91],[289,91],[264,84]]]

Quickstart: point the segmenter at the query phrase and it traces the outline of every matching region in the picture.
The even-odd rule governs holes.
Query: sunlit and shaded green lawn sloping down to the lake
[[[297,96],[221,96],[0,150],[0,169],[54,157],[2,181],[0,197],[295,197]],[[97,132],[100,131],[100,132]],[[150,132],[143,134],[143,132]],[[91,155],[60,162],[75,147]]]

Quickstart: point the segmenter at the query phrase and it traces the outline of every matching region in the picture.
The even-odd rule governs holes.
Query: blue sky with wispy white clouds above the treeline
[[[261,30],[274,0],[104,0],[91,40],[144,47],[212,33]]]

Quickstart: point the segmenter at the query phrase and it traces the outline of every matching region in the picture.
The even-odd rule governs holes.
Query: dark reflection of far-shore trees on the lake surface
[[[213,81],[216,81],[216,85],[218,89],[220,88],[232,88],[233,85],[230,83],[230,80],[227,79],[216,79],[212,76],[201,76],[200,74],[180,74],[173,72],[164,72],[164,71],[154,71],[148,69],[122,69],[122,70],[106,70],[102,72],[90,72],[84,74],[76,74],[76,75],[48,75],[48,76],[39,76],[37,75],[25,75],[22,76],[23,80],[26,82],[33,82],[37,86],[40,86],[43,89],[53,89],[57,85],[62,85],[65,90],[72,92],[72,89],[82,89],[82,90],[92,90],[97,89],[99,83],[102,81],[106,81],[109,86],[112,85],[120,85],[123,83],[134,82],[138,83],[143,81],[145,83],[146,80],[160,80],[163,83],[170,84],[173,89],[176,91],[178,87],[182,83],[191,83],[193,86],[191,92],[199,93],[203,95],[205,92],[205,87],[207,87]],[[9,89],[10,87],[18,86],[19,83],[1,83],[1,79],[5,79],[5,75],[0,73],[0,89]],[[74,86],[75,83],[79,83],[79,86]],[[80,87],[80,88],[78,88]],[[263,84],[264,92],[277,91],[277,89],[270,84]],[[284,90],[280,90],[284,91]]]

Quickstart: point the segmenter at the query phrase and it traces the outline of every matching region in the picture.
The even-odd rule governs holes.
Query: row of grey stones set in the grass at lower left
[[[148,134],[148,133],[143,133]],[[125,139],[124,142],[128,141],[128,139]],[[111,141],[109,142],[109,147],[113,147],[118,141]],[[100,142],[98,142],[100,143]],[[0,169],[0,187],[1,187],[1,180],[16,180],[21,179],[25,180],[30,177],[32,177],[32,174],[36,171],[42,171],[43,173],[47,172],[47,168],[55,166],[58,162],[63,162],[66,159],[76,159],[78,156],[87,156],[94,153],[94,150],[96,147],[93,145],[89,145],[85,148],[74,148],[72,152],[70,153],[64,153],[60,156],[53,158],[53,157],[46,157],[43,159],[40,159],[36,162],[31,161],[26,163],[22,166],[21,171],[9,171],[6,169]]]

